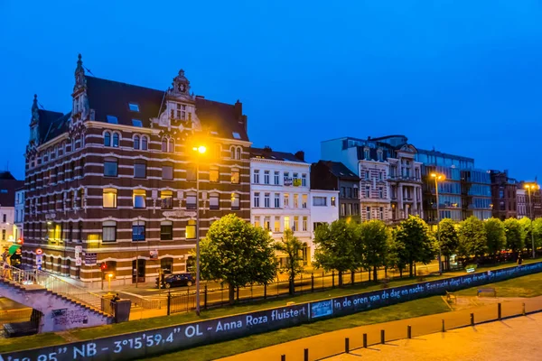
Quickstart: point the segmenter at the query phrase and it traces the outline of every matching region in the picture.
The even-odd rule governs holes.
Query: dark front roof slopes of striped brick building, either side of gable
[[[87,76],[89,108],[95,111],[95,120],[107,122],[107,116],[116,116],[119,125],[133,125],[141,120],[150,127],[151,118],[158,117],[163,106],[164,90],[144,88],[113,80]],[[230,105],[196,97],[196,116],[201,126],[222,138],[248,141],[240,103]],[[128,104],[135,103],[139,111],[131,111]],[[164,110],[162,110],[164,111]]]

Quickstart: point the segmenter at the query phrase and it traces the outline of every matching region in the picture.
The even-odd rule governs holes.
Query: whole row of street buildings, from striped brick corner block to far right
[[[90,77],[79,55],[71,100],[63,113],[34,96],[12,236],[27,264],[86,285],[106,276],[102,263],[117,284],[191,269],[196,241],[229,213],[276,239],[292,229],[305,264],[321,223],[416,215],[435,224],[435,171],[445,175],[441,218],[522,217],[532,205],[506,172],[416,149],[403,135],[325,141],[315,163],[253,147],[242,104],[195,96],[182,70],[156,90]]]

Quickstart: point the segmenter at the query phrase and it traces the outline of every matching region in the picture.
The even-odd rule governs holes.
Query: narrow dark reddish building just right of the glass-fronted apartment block
[[[494,218],[518,218],[518,181],[509,178],[508,171],[490,171],[491,206]]]

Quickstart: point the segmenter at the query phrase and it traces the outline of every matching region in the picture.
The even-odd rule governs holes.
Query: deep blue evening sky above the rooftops
[[[0,168],[23,177],[33,94],[70,111],[95,76],[243,102],[256,146],[405,134],[483,169],[542,177],[539,1],[0,0]],[[437,5],[438,4],[438,5]]]

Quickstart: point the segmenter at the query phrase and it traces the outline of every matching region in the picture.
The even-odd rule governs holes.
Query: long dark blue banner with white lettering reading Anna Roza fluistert
[[[285,329],[320,319],[344,316],[404,301],[444,294],[512,277],[542,271],[542,263],[503,268],[484,273],[420,282],[363,292],[328,300],[301,303],[270,310],[206,319],[162,329],[97,338],[65,345],[38,347],[0,354],[0,361],[134,360],[183,348],[208,345],[256,333]]]

